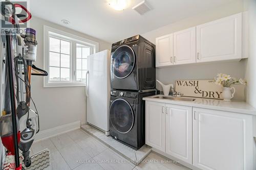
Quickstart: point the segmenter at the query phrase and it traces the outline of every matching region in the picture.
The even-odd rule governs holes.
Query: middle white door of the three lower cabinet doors
[[[192,107],[166,104],[165,153],[192,164]]]

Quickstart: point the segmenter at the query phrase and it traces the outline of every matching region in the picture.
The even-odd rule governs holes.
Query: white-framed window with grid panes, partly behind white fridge
[[[85,86],[87,57],[98,43],[50,27],[44,27],[44,87]]]

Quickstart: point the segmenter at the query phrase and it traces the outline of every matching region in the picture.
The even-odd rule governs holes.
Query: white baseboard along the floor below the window
[[[41,140],[49,139],[54,136],[67,133],[76,129],[80,128],[80,121],[66,124],[66,125],[61,125],[55,128],[39,131],[38,134],[35,136],[35,141],[34,142],[39,142]]]

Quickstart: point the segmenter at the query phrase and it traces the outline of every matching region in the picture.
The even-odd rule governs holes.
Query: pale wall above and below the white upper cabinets
[[[243,1],[235,1],[219,8],[205,11],[195,16],[185,18],[167,26],[142,34],[143,37],[155,43],[156,37],[195,27],[202,23],[243,12]],[[240,62],[222,62],[198,65],[182,65],[169,68],[157,68],[157,79],[163,83],[175,83],[178,79],[213,79],[218,73],[230,74],[233,77],[244,78],[245,60]],[[161,90],[159,84],[157,88]],[[244,87],[237,87],[234,99],[244,100]]]

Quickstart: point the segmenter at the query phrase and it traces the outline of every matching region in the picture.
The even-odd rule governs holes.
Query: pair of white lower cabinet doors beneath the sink
[[[192,107],[146,101],[146,144],[192,163]]]

